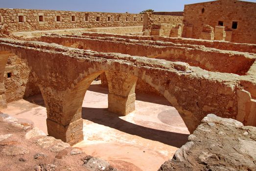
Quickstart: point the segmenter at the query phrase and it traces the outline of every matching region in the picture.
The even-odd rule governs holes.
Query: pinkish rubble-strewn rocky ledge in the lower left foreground
[[[13,127],[12,122],[3,121],[4,118],[8,118],[8,115],[0,113],[0,133],[12,136],[0,141],[1,171],[93,171],[83,166],[84,160],[81,159],[87,154],[64,142],[62,143],[68,145],[67,148],[53,151],[51,147],[58,146],[61,142],[53,137],[38,136],[24,139],[29,130]],[[37,140],[45,146],[35,143]],[[48,146],[49,140],[53,142],[50,146]],[[94,161],[102,160],[95,158]],[[110,166],[108,163],[104,164]]]

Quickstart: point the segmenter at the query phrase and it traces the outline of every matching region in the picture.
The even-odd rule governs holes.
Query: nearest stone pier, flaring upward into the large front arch
[[[47,130],[50,136],[70,145],[83,141],[83,99],[93,79],[101,73],[89,75],[75,85],[65,85],[65,82],[59,81],[62,86],[40,86],[47,107]]]

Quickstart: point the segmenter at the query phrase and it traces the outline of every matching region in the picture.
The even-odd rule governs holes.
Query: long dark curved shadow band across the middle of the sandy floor
[[[82,107],[82,118],[93,123],[114,128],[119,131],[137,135],[145,139],[159,141],[163,144],[180,148],[187,142],[188,134],[168,132],[158,129],[142,127],[120,119],[107,108]]]

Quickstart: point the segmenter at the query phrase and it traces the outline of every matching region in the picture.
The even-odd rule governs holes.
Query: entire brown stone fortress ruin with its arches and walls
[[[178,143],[159,171],[256,170],[255,19],[256,3],[240,0],[144,14],[1,8],[0,110],[11,114],[10,104],[42,94],[49,137],[75,147],[89,123],[83,118],[85,96],[100,80],[108,111],[116,116],[132,117],[140,93],[165,98],[177,110],[190,132],[188,142]],[[16,145],[1,145],[2,157],[8,155],[5,146]],[[145,168],[130,170],[150,170]],[[36,169],[64,170],[57,164]]]

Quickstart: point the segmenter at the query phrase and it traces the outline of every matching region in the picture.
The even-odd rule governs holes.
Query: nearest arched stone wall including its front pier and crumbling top
[[[153,86],[178,110],[191,132],[203,117],[213,112],[238,119],[245,125],[256,125],[253,119],[255,64],[246,75],[239,76],[209,72],[182,62],[85,51],[57,44],[7,39],[0,39],[0,42],[1,51],[26,59],[38,78],[47,107],[49,135],[70,144],[83,139],[81,106],[87,88],[109,70],[133,75]],[[30,54],[37,54],[37,61],[35,55]],[[52,74],[42,74],[44,71]],[[252,84],[250,89],[243,89],[241,83],[244,82]],[[238,96],[239,93],[244,95]]]

